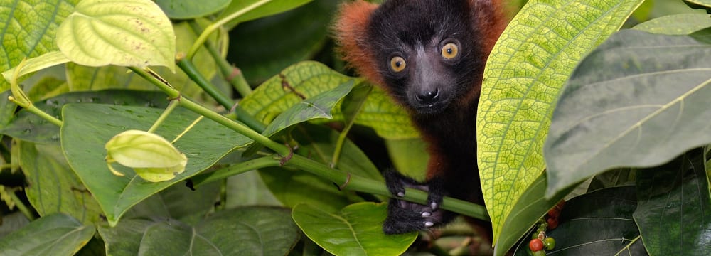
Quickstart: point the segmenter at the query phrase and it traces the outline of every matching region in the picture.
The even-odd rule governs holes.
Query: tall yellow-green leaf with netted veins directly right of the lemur
[[[486,63],[476,123],[495,242],[515,202],[545,169],[543,142],[560,88],[640,3],[529,1],[499,38]]]

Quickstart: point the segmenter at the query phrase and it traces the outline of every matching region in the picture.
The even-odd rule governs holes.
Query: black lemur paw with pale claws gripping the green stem
[[[385,171],[384,176],[387,189],[395,197],[390,199],[387,206],[387,218],[383,223],[383,232],[386,234],[408,233],[415,230],[428,230],[435,225],[444,223],[445,215],[448,213],[439,210],[442,198],[444,198],[444,186],[439,178],[432,178],[422,183],[396,171]],[[398,199],[405,196],[405,188],[416,188],[428,192],[427,204],[422,205]]]

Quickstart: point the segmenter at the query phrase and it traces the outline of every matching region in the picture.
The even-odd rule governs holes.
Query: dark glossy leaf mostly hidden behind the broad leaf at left
[[[34,102],[33,105],[43,112],[59,118],[65,104],[77,102],[143,107],[166,107],[168,105],[166,95],[162,92],[132,90],[65,93]],[[59,127],[27,110],[20,110],[10,124],[0,129],[0,134],[38,144],[59,143]]]

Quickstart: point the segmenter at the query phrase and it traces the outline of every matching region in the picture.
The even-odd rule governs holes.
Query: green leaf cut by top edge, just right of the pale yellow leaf
[[[161,6],[169,18],[186,19],[214,14],[227,7],[230,0],[156,0],[156,4]]]

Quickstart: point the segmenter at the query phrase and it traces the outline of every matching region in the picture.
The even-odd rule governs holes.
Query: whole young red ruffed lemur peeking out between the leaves
[[[506,27],[501,0],[359,0],[341,6],[336,41],[343,58],[404,106],[428,144],[424,182],[385,171],[393,198],[387,234],[448,223],[444,196],[483,205],[476,166],[476,106],[486,58]],[[427,191],[427,205],[398,199]],[[484,237],[491,223],[472,220]],[[490,239],[490,238],[489,238]]]

